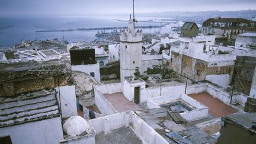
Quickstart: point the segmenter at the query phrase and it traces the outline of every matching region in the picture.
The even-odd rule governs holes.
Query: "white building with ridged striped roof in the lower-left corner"
[[[56,143],[63,139],[55,90],[0,97],[0,141]]]

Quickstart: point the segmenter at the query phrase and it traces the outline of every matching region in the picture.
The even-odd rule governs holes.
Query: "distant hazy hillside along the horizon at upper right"
[[[169,12],[150,12],[136,14],[139,17],[155,17],[168,18],[171,20],[182,21],[196,21],[203,23],[208,18],[215,17],[235,17],[235,18],[251,18],[256,15],[256,10],[242,10],[242,11],[169,11]]]

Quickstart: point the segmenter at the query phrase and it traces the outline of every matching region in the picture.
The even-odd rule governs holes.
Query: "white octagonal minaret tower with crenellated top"
[[[128,28],[120,30],[120,79],[134,76],[135,68],[141,68],[142,30],[135,30],[130,15]]]

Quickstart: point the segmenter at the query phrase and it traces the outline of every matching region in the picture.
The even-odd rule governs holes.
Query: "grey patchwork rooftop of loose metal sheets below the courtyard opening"
[[[193,124],[175,123],[175,121],[172,120],[172,117],[168,114],[168,110],[165,110],[164,108],[139,110],[135,113],[169,143],[176,142],[166,135],[166,129],[170,130],[170,132],[177,132],[178,135],[185,137],[185,139],[189,140],[191,143],[216,143],[217,141],[217,139],[206,132],[203,132],[203,130]]]

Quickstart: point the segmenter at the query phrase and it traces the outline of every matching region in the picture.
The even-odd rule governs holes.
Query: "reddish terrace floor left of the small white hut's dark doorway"
[[[126,97],[124,97],[123,92],[117,92],[114,94],[104,94],[104,97],[113,105],[115,110],[119,112],[127,111],[127,110],[142,110],[139,105],[129,101]]]

